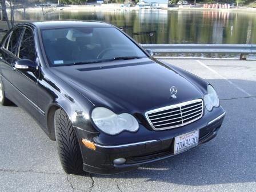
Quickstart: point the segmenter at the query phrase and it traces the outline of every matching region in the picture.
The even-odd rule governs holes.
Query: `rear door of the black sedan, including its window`
[[[12,85],[11,74],[13,73],[13,61],[17,53],[19,39],[23,32],[23,27],[17,27],[10,31],[9,34],[3,39],[2,47],[0,49],[0,73],[2,81],[5,86],[7,97],[11,100],[13,96],[14,87]]]

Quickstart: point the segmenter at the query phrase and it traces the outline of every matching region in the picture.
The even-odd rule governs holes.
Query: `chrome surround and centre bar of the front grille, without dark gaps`
[[[181,119],[182,119],[182,122],[183,121],[186,121],[187,119],[183,119],[183,116],[182,116],[182,107],[183,106],[186,106],[186,105],[190,105],[190,104],[193,104],[193,103],[197,103],[197,102],[201,102],[201,105],[202,105],[202,113],[199,117],[195,118],[195,119],[192,119],[191,121],[188,121],[186,123],[181,123],[180,125],[175,125],[175,126],[168,126],[168,127],[163,127],[163,128],[157,128],[157,126],[159,125],[156,125],[154,126],[153,123],[150,121],[149,119],[149,116],[151,113],[157,113],[157,112],[161,112],[161,111],[165,111],[165,110],[170,110],[170,109],[174,109],[174,108],[179,108],[179,110],[177,111],[181,111],[180,114],[181,114]],[[195,106],[199,106],[198,105],[195,105]],[[186,107],[185,109],[188,109],[190,107]],[[185,111],[186,112],[186,111]],[[162,114],[165,114],[165,113],[162,113]],[[161,114],[159,114],[161,115]],[[177,114],[178,115],[178,114]],[[198,114],[199,115],[199,114]],[[155,115],[152,115],[150,117],[154,117]],[[197,115],[195,115],[197,116]],[[160,131],[160,130],[166,130],[166,129],[173,129],[173,128],[176,128],[176,127],[181,127],[181,126],[184,126],[184,125],[187,125],[189,123],[192,123],[194,121],[197,121],[198,119],[200,119],[201,117],[203,116],[203,99],[195,99],[195,100],[192,100],[192,101],[186,101],[186,102],[183,102],[183,103],[178,103],[178,104],[175,104],[175,105],[170,105],[170,106],[166,106],[166,107],[161,107],[161,108],[158,108],[158,109],[153,109],[153,110],[150,110],[150,111],[146,111],[145,113],[145,117],[147,119],[147,122],[149,122],[150,126],[152,127],[153,130],[155,131]],[[171,123],[166,123],[166,124],[171,124]]]

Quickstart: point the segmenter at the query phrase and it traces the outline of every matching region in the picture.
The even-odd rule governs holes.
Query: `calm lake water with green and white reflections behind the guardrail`
[[[155,43],[252,43],[256,44],[256,13],[230,11],[56,11],[45,20],[97,20],[116,26],[131,26],[132,33],[156,31]],[[15,19],[24,19],[17,12]],[[27,13],[25,19],[42,20],[41,11]],[[150,38],[150,37],[149,37]],[[141,42],[143,43],[143,42]]]

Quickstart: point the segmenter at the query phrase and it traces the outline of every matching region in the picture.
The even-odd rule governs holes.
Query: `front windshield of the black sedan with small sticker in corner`
[[[50,66],[147,57],[114,27],[46,29],[42,39]]]

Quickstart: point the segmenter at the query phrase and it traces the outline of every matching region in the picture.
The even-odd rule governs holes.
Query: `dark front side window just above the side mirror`
[[[18,57],[21,59],[30,59],[35,61],[37,54],[35,52],[35,41],[33,31],[26,29],[19,48]]]

